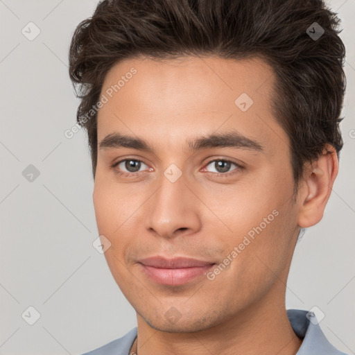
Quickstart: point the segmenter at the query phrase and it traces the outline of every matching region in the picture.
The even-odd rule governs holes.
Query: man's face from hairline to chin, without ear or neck
[[[107,73],[96,221],[116,283],[150,327],[197,331],[283,302],[298,226],[289,139],[271,114],[274,80],[257,59],[130,59]],[[116,133],[153,151],[114,139],[100,148]],[[193,149],[227,133],[247,139]],[[207,264],[166,270],[144,266],[148,257]]]

